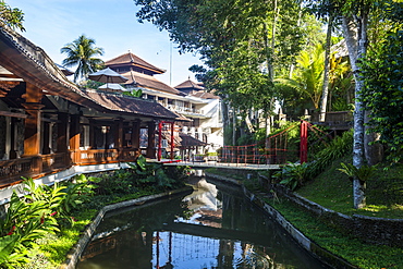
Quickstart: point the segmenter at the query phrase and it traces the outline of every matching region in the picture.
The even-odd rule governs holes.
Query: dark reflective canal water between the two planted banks
[[[186,196],[106,216],[77,269],[327,268],[240,188],[193,179]]]

